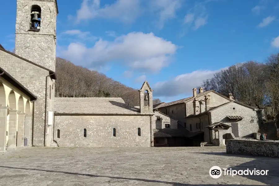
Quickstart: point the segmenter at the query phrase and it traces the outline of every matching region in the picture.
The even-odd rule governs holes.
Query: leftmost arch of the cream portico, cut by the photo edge
[[[6,92],[3,83],[0,81],[0,151],[6,150],[7,111]]]

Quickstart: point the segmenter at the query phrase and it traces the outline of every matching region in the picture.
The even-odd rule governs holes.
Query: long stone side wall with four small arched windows
[[[150,117],[55,115],[54,140],[60,147],[150,147]],[[138,128],[141,136],[138,136]],[[57,138],[57,129],[60,138]],[[83,137],[83,129],[86,129],[86,137]]]

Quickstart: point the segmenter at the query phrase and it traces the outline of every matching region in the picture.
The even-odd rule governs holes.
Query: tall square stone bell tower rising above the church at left
[[[55,72],[56,0],[17,0],[15,54]]]

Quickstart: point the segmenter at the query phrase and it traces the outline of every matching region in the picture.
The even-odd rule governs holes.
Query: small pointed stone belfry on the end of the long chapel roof
[[[153,113],[153,90],[150,88],[147,81],[143,83],[139,90],[140,99],[140,113],[149,114]]]

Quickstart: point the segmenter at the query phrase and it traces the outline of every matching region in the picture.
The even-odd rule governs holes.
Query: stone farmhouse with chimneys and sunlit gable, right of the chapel
[[[232,94],[226,97],[213,90],[200,88],[197,93],[194,88],[193,96],[154,105],[153,110],[177,119],[180,128],[193,134],[186,135],[193,146],[199,146],[200,142],[224,145],[225,139],[252,137],[259,131],[258,108],[234,100]]]

